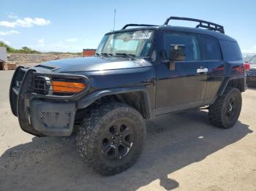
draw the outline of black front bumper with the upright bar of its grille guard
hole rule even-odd
[[[34,70],[18,67],[10,85],[12,113],[20,128],[35,136],[70,136],[75,121],[76,102],[40,98],[31,93]]]

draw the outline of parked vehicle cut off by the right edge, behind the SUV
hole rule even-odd
[[[256,87],[256,55],[247,61],[249,69],[246,70],[246,84],[249,87]]]

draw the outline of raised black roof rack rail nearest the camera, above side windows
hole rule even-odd
[[[167,25],[170,20],[188,20],[188,21],[198,22],[199,24],[197,26],[195,26],[195,28],[200,28],[200,27],[201,28],[207,28],[211,31],[219,31],[222,34],[225,34],[223,26],[220,26],[216,23],[208,22],[206,20],[199,20],[199,19],[188,18],[188,17],[168,17],[167,20],[165,20],[164,25]]]

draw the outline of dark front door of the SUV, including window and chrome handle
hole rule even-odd
[[[207,63],[201,61],[196,34],[165,31],[162,61],[157,64],[156,114],[175,112],[200,106],[206,93]],[[170,47],[180,44],[184,60],[170,67]]]

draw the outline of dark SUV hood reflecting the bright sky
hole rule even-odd
[[[56,61],[48,61],[37,67],[51,69],[56,72],[75,72],[75,71],[102,71],[115,69],[132,69],[151,66],[151,63],[143,58],[129,60],[127,58],[67,58]]]

